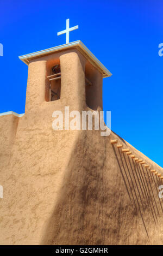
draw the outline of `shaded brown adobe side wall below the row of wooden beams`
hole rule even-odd
[[[154,182],[152,182],[152,189],[149,186],[149,182],[147,183],[151,195],[152,192],[154,193],[156,205],[154,204],[154,199],[152,198],[151,200],[150,193],[147,190],[147,195],[149,200],[153,202],[154,208],[151,210],[148,207],[145,195],[142,197],[141,194],[145,209],[145,212],[143,212],[139,195],[142,183],[140,181],[139,186],[138,180],[135,179],[136,182],[134,181],[129,160],[126,158],[128,172],[121,153],[124,168],[127,171],[127,180],[121,157],[116,146],[114,146],[127,182],[131,200],[129,199],[110,139],[118,139],[123,148],[129,148],[136,157],[145,160],[152,169],[156,169],[163,174],[160,166],[116,134],[111,133],[109,137],[102,137],[98,130],[81,131],[76,146],[71,153],[57,204],[55,204],[52,215],[43,230],[41,244],[159,245],[163,243],[161,235],[163,231],[161,224],[163,213],[158,199],[159,190],[156,191]],[[132,162],[131,166],[133,167]],[[136,193],[134,193],[133,188]],[[133,193],[133,197],[131,193]],[[156,207],[158,207],[160,217]],[[145,226],[142,222],[140,210]],[[158,218],[158,221],[156,218]]]

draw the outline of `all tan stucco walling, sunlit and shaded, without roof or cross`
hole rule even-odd
[[[46,102],[45,76],[53,58],[60,59],[61,98]],[[110,139],[117,138],[161,174],[162,169],[114,133],[102,137],[98,130],[52,129],[54,110],[87,110],[85,63],[77,50],[34,59],[29,64],[25,115],[0,116],[1,245],[163,242],[162,217],[155,225],[144,200],[148,240]],[[102,82],[99,73],[97,80]]]

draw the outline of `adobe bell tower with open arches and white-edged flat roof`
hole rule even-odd
[[[111,73],[81,41],[19,57],[28,65],[26,112],[42,104],[102,109],[102,80]]]

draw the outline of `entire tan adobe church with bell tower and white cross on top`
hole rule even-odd
[[[162,244],[162,168],[114,132],[52,128],[65,106],[102,110],[111,76],[67,27],[65,45],[20,57],[26,111],[0,115],[0,244]]]

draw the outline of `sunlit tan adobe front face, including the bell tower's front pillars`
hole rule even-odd
[[[76,50],[60,58],[61,98],[45,101],[45,78],[51,57],[29,63],[26,112],[0,116],[1,171],[0,244],[40,244],[42,229],[59,197],[62,179],[78,131],[52,129],[54,110],[84,110],[85,59]]]

